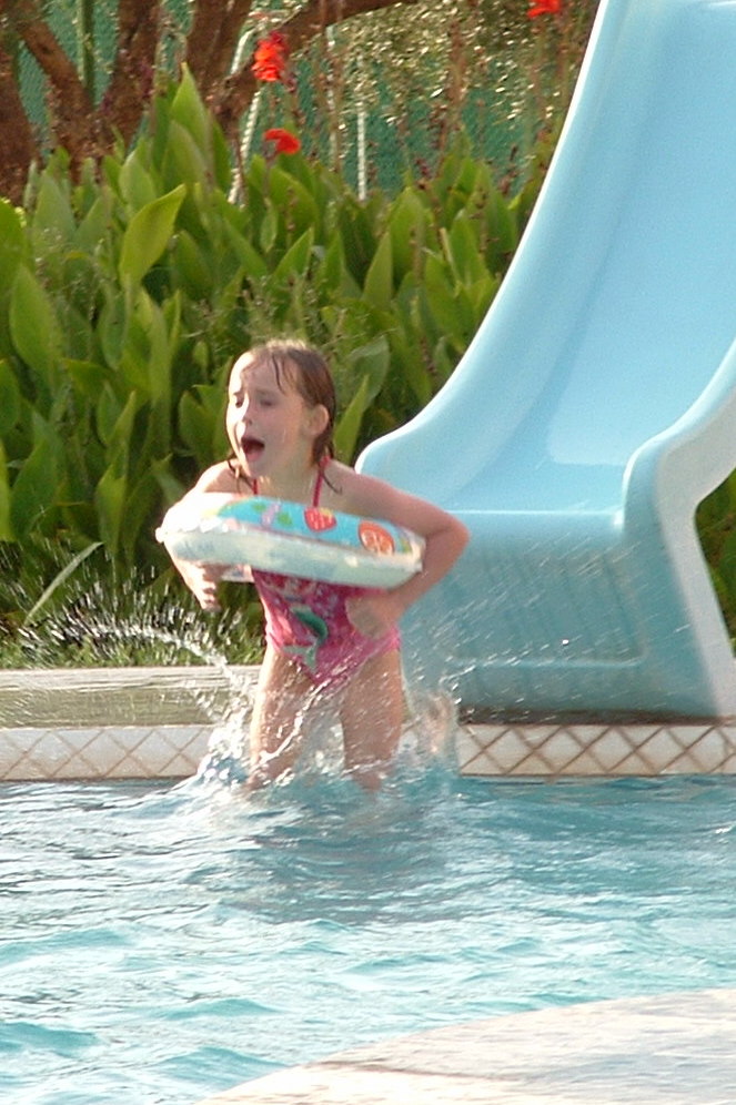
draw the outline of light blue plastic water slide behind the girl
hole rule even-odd
[[[736,467],[736,2],[604,0],[450,382],[359,466],[472,540],[405,620],[484,714],[736,713],[697,504]]]

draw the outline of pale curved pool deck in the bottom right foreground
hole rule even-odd
[[[341,1052],[199,1105],[733,1105],[736,990],[547,1008]]]

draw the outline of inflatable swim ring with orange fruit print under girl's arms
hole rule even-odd
[[[326,507],[210,491],[178,503],[155,531],[170,556],[359,587],[396,587],[422,567],[424,541],[401,526]]]

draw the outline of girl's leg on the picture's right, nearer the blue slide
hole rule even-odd
[[[340,708],[345,769],[366,790],[377,790],[401,738],[404,689],[397,650],[366,660],[344,691]]]

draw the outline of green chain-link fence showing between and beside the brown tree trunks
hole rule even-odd
[[[251,12],[234,67],[248,63],[259,37],[289,13],[283,4],[265,0]],[[595,0],[578,8],[577,57],[569,51],[565,62],[572,68]],[[42,11],[99,103],[115,54],[118,0],[46,0]],[[393,191],[405,172],[436,165],[462,129],[472,152],[500,180],[513,180],[561,94],[550,51],[541,50],[552,24],[532,26],[525,17],[524,0],[419,0],[331,28],[295,63],[298,97],[289,110],[301,116],[305,152],[331,161],[362,194],[372,186]],[[165,0],[161,68],[175,71],[191,18],[191,0]],[[48,135],[46,78],[20,40],[17,65],[29,118]],[[246,155],[256,116],[259,125],[273,125],[274,95],[265,89],[243,116]]]

